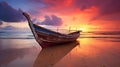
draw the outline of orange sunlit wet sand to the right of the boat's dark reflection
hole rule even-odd
[[[118,43],[94,38],[79,38],[78,41],[80,45],[73,48],[54,67],[119,67]]]

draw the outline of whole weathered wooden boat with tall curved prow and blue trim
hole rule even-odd
[[[28,20],[31,31],[36,41],[41,45],[41,47],[48,47],[52,45],[73,42],[76,41],[76,39],[80,35],[80,31],[72,32],[70,34],[62,34],[46,29],[44,27],[33,24],[30,16],[27,13],[23,13],[23,15]]]

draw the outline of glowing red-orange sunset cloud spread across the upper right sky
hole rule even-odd
[[[44,15],[56,15],[62,18],[63,26],[86,28],[109,26],[119,22],[119,0],[41,0],[46,7],[40,11]],[[114,3],[113,3],[114,2]],[[111,6],[112,5],[112,6]],[[111,7],[109,7],[111,6]],[[113,7],[114,6],[114,7]],[[39,16],[41,17],[41,15]],[[117,19],[116,19],[117,18]],[[116,21],[117,20],[117,21]],[[114,22],[116,21],[116,22]],[[110,22],[110,23],[109,23]]]

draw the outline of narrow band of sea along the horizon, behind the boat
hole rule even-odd
[[[81,32],[79,38],[120,39],[120,31]],[[0,39],[34,39],[34,36],[31,32],[0,32]]]

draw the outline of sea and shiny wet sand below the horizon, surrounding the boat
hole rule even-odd
[[[120,67],[120,31],[81,32],[76,42],[48,48],[31,32],[0,32],[0,67]]]

